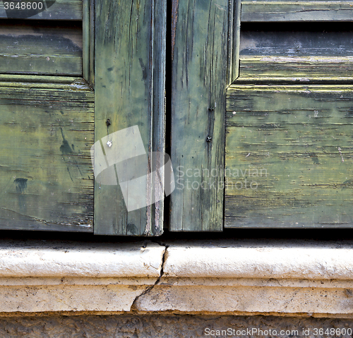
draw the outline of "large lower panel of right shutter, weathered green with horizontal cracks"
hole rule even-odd
[[[352,102],[352,85],[230,86],[225,227],[352,227]]]

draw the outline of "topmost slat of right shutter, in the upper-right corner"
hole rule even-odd
[[[352,21],[353,1],[241,1],[241,22]]]

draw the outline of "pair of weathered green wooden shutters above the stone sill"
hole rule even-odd
[[[119,180],[153,168],[107,152],[138,131],[164,163],[166,2],[44,2],[0,8],[1,228],[161,234],[163,200],[128,211]],[[352,224],[351,2],[173,1],[169,229]]]

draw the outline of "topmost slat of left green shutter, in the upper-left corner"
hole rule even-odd
[[[82,20],[83,0],[26,0],[25,4],[30,4],[30,10],[19,10],[14,8],[12,11],[9,7],[11,2],[13,3],[13,6],[16,6],[16,4],[20,1],[13,0],[0,2],[0,18],[30,20]],[[34,7],[39,8],[39,6],[42,10],[32,9]],[[7,11],[5,8],[8,8]]]

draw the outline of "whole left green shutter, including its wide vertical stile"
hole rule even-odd
[[[2,2],[1,229],[160,234],[162,201],[127,212],[91,148],[138,126],[164,161],[165,1],[37,1],[30,18]]]

